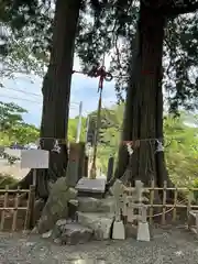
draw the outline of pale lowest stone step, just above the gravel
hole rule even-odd
[[[112,235],[113,213],[77,211],[78,223],[91,229],[96,240],[108,240]]]

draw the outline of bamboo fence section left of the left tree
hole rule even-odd
[[[35,187],[0,189],[0,231],[29,230],[33,226]]]

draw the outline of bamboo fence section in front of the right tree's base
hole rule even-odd
[[[133,187],[128,187],[128,191],[133,191]],[[161,218],[161,223],[176,222],[178,215],[183,212],[183,217],[187,218],[190,210],[198,210],[198,201],[193,199],[198,188],[186,187],[167,187],[167,182],[164,182],[163,187],[156,187],[155,183],[151,183],[151,187],[144,187],[144,196],[147,197],[147,218],[152,223],[156,218]],[[168,198],[168,193],[172,193],[172,199]],[[161,199],[156,199],[156,194],[160,194]]]

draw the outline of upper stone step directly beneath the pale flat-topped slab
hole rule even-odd
[[[81,212],[112,212],[114,200],[112,197],[106,199],[97,199],[92,197],[78,197],[75,200],[70,200],[77,211]]]

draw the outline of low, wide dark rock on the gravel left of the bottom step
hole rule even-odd
[[[61,241],[62,244],[86,243],[92,237],[92,230],[78,223],[64,223],[57,221],[54,230],[54,241]]]

